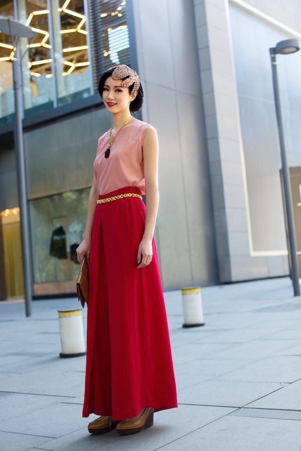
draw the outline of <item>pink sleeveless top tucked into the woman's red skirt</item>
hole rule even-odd
[[[142,143],[150,124],[135,119],[117,133],[110,156],[104,157],[109,147],[110,130],[98,140],[93,171],[100,194],[107,194],[125,186],[136,186],[145,194]]]

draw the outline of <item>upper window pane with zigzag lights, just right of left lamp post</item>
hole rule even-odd
[[[47,1],[20,0],[20,20],[32,27],[33,39],[21,39],[24,115],[53,108],[50,12]]]

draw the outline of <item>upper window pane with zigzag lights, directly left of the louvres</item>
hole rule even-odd
[[[83,0],[54,0],[53,37],[58,105],[91,95]]]

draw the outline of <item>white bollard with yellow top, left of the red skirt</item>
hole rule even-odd
[[[58,310],[62,352],[60,357],[84,355],[84,327],[82,310]]]

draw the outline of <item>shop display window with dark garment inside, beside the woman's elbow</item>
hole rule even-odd
[[[30,201],[35,284],[75,280],[90,189]]]

